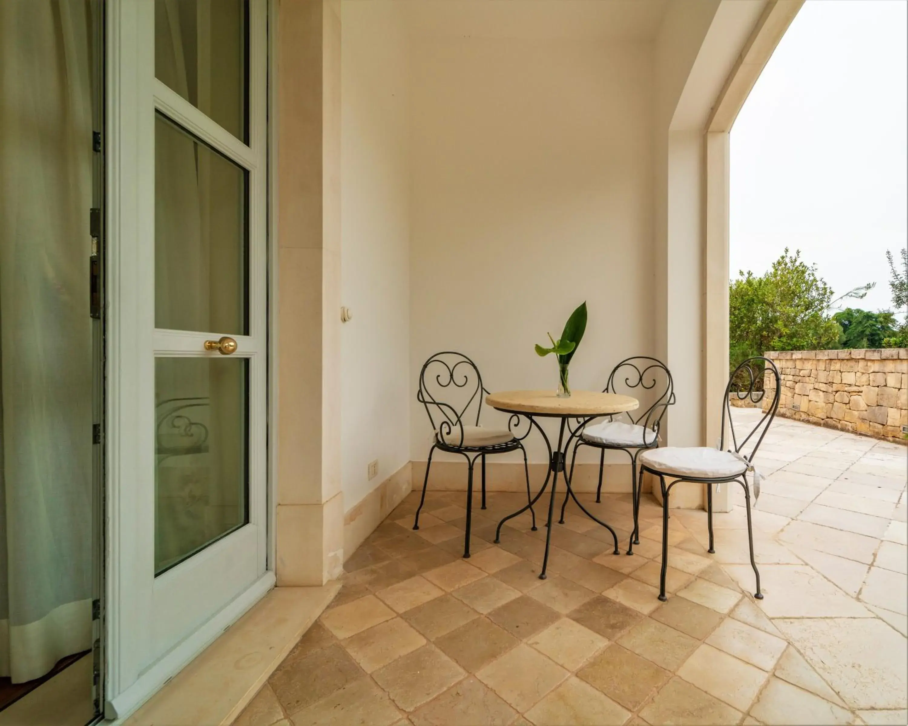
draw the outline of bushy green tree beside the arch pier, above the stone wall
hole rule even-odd
[[[731,367],[766,350],[836,348],[839,326],[827,315],[833,290],[816,268],[788,249],[760,277],[738,272],[729,288]]]

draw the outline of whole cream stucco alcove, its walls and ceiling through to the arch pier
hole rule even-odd
[[[426,458],[429,355],[466,353],[492,389],[554,388],[555,360],[533,345],[584,299],[574,388],[655,355],[676,380],[664,443],[710,443],[703,125],[764,6],[670,2],[609,35],[576,3],[464,5],[481,23],[445,4],[343,3],[348,510]]]

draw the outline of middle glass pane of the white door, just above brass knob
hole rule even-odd
[[[154,324],[246,335],[249,172],[158,113]]]

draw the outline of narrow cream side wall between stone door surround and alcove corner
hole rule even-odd
[[[344,2],[341,481],[356,505],[410,460],[408,40],[400,5]],[[338,315],[340,316],[340,310]],[[369,462],[379,474],[368,480]]]

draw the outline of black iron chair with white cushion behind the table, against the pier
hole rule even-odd
[[[632,411],[607,417],[606,421],[590,426],[587,424],[577,438],[574,454],[571,456],[570,476],[574,476],[574,463],[577,461],[577,449],[580,446],[591,446],[599,449],[599,483],[596,487],[596,502],[602,497],[602,473],[606,465],[608,449],[623,451],[630,456],[631,462],[631,499],[634,504],[634,531],[631,533],[633,544],[640,544],[637,525],[637,514],[640,509],[640,491],[637,486],[637,456],[641,451],[659,446],[659,427],[666,409],[675,403],[675,388],[672,374],[666,364],[657,358],[635,356],[625,358],[612,368],[608,375],[604,393],[636,392],[637,388],[653,391],[655,400],[640,411],[637,416]],[[621,420],[627,417],[627,420]],[[617,418],[617,420],[616,420]],[[561,505],[561,518],[558,524],[565,521],[565,507],[568,496]]]

